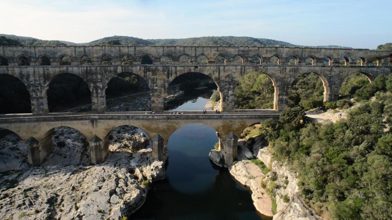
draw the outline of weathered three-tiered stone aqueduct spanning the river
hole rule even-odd
[[[382,63],[390,57],[392,51],[303,47],[0,47],[0,74],[15,76],[26,85],[32,110],[30,115],[2,115],[0,127],[25,140],[31,164],[42,163],[51,153],[55,127],[75,128],[90,140],[95,164],[105,159],[108,133],[117,126],[141,128],[153,137],[154,157],[162,159],[165,142],[176,129],[189,123],[203,123],[220,134],[220,151],[225,163],[230,164],[236,155],[236,135],[253,123],[279,117],[279,112],[287,107],[289,88],[299,75],[317,74],[323,81],[324,101],[334,101],[338,99],[344,79],[351,73],[361,72],[370,81],[379,74],[391,74],[392,67]],[[113,76],[123,72],[137,74],[148,82],[156,115],[106,112],[105,88]],[[221,95],[221,114],[168,115],[163,112],[166,88],[174,78],[187,72],[200,72],[214,80]],[[271,79],[275,88],[275,111],[233,111],[234,89],[250,72],[267,74]],[[49,83],[62,73],[74,74],[87,83],[93,112],[48,114]]]

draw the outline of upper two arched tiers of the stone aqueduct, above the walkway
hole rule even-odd
[[[240,79],[249,72],[260,72],[271,79],[275,87],[274,109],[281,111],[287,107],[289,88],[300,74],[316,73],[324,84],[324,101],[336,100],[343,80],[351,73],[361,72],[370,81],[379,74],[392,73],[392,67],[381,66],[391,54],[392,51],[308,47],[2,46],[0,58],[6,62],[2,62],[0,74],[19,78],[30,92],[33,114],[47,114],[49,83],[61,73],[75,74],[87,83],[93,112],[106,111],[105,89],[113,76],[137,74],[151,89],[152,110],[162,112],[166,89],[181,74],[201,72],[209,76],[221,94],[221,110],[231,111]],[[65,57],[71,63],[62,62]],[[151,62],[144,63],[145,57]],[[272,58],[278,62],[272,63]],[[224,63],[216,61],[222,59]]]

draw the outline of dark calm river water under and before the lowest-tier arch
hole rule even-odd
[[[213,165],[208,153],[218,142],[203,124],[181,127],[169,138],[167,177],[152,184],[145,204],[130,219],[263,219],[250,192],[227,169]]]

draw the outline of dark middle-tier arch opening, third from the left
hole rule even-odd
[[[104,92],[109,112],[151,111],[149,83],[138,74],[133,72],[115,74],[107,81]]]

